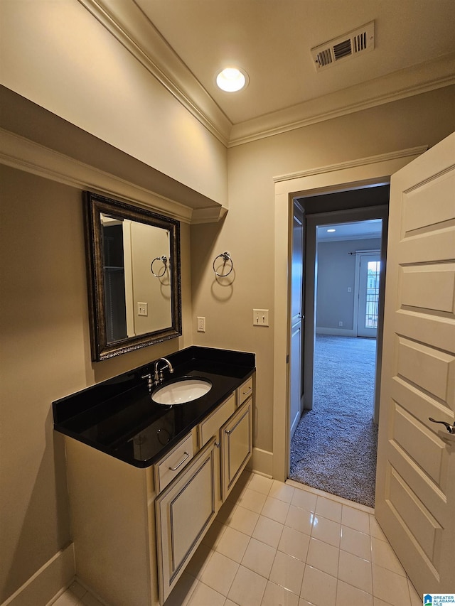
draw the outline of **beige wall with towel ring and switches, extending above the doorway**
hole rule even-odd
[[[228,215],[223,225],[191,227],[193,315],[205,316],[207,332],[196,332],[194,318],[193,330],[198,345],[256,352],[258,448],[271,452],[273,438],[273,177],[432,146],[455,130],[454,99],[447,87],[229,150]],[[212,261],[225,250],[235,280],[222,287]],[[253,308],[270,310],[270,328],[252,326]]]

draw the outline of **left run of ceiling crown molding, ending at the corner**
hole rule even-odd
[[[200,124],[227,146],[232,123],[131,1],[78,0]]]

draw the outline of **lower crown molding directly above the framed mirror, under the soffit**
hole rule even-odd
[[[4,129],[0,129],[0,163],[73,188],[95,191],[114,198],[119,197],[126,202],[165,213],[178,221],[191,223],[194,212],[191,207],[169,200]],[[213,217],[216,212],[220,214],[220,208],[219,205],[214,207]]]

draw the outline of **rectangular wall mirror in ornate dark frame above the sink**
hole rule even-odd
[[[180,336],[178,221],[91,192],[84,209],[92,360]]]

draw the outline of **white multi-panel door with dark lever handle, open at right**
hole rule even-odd
[[[390,190],[375,515],[420,594],[455,588],[454,416],[455,133]]]

